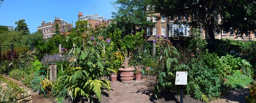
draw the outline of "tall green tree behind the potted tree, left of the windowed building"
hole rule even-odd
[[[154,23],[146,20],[145,0],[117,0],[112,3],[117,13],[112,12],[116,27],[122,34],[135,34]]]

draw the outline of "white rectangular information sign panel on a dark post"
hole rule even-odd
[[[175,85],[187,85],[187,71],[176,71]]]

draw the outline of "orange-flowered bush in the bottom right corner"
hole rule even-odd
[[[249,95],[246,96],[246,101],[248,103],[256,103],[256,83],[250,86]]]

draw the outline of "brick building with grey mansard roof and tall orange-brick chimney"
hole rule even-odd
[[[106,18],[103,16],[98,16],[98,14],[83,16],[83,13],[79,12],[78,20],[79,21],[82,21],[82,20],[87,21],[87,23],[88,23],[87,27],[95,27],[96,23],[99,24],[102,21],[106,21]]]

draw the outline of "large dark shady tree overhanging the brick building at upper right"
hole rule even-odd
[[[255,0],[149,0],[155,10],[165,16],[189,15],[190,24],[203,26],[211,40],[214,29],[245,32],[255,27]],[[254,16],[254,17],[253,17]],[[219,21],[216,21],[216,19]],[[245,19],[246,18],[246,19]]]

